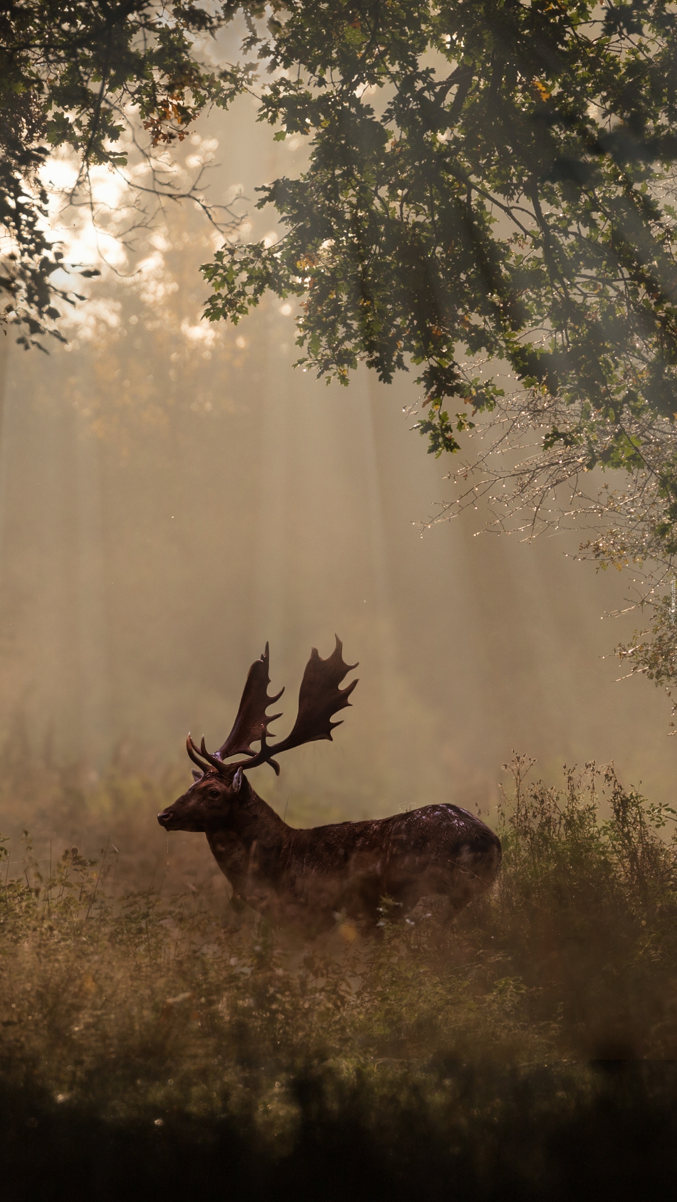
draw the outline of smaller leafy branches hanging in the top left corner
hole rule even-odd
[[[191,36],[218,24],[209,6],[190,2],[0,4],[1,316],[26,349],[44,333],[61,337],[54,300],[73,299],[54,284],[68,264],[47,222],[48,155],[71,148],[80,163],[72,195],[86,201],[92,166],[126,166],[130,126],[149,147],[182,139],[205,105],[228,97],[228,72],[205,70],[192,53]]]

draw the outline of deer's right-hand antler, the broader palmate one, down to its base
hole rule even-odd
[[[311,657],[306,664],[299,690],[299,712],[292,732],[286,739],[274,743],[270,748],[266,744],[264,732],[260,750],[253,760],[242,762],[242,768],[254,768],[259,763],[269,763],[276,773],[280,773],[280,767],[271,758],[272,755],[298,748],[302,743],[314,743],[317,739],[331,740],[331,731],[336,726],[341,726],[341,721],[332,722],[331,718],[340,709],[351,704],[348,697],[358,683],[352,680],[346,689],[338,688],[346,673],[352,672],[358,665],[343,662],[343,644],[338,635],[334,637],[336,647],[328,659],[320,659],[316,647],[311,650]]]

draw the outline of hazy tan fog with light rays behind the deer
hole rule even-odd
[[[298,169],[298,139],[272,143],[253,113],[242,100],[202,127],[215,201]],[[254,212],[247,236],[274,228]],[[90,774],[121,742],[182,757],[187,781],[187,731],[223,740],[266,639],[284,734],[310,648],[328,655],[336,631],[360,683],[334,744],[289,752],[278,781],[253,775],[290,816],[489,810],[511,749],[549,778],[613,760],[670,801],[670,704],[617,680],[613,647],[641,615],[605,617],[631,577],[575,563],[575,534],[478,535],[480,510],[421,535],[451,464],[411,432],[414,374],[325,387],[293,368],[278,300],[236,328],[200,323],[216,244],[174,207],[116,264],[138,274],[91,287],[68,346],[4,340],[5,728],[23,714],[36,755],[52,740]]]

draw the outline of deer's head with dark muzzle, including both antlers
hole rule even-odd
[[[252,789],[244,775],[250,768],[269,763],[280,774],[280,764],[274,756],[302,743],[314,743],[317,739],[330,739],[331,732],[341,721],[332,722],[334,714],[349,706],[349,696],[357,685],[352,680],[345,689],[338,685],[347,672],[357,668],[357,664],[343,662],[343,644],[336,635],[336,647],[331,655],[320,659],[317,648],[312,648],[306,664],[299,691],[299,710],[290,733],[280,743],[269,745],[269,725],[282,714],[266,714],[283,694],[268,696],[270,677],[268,674],[268,643],[260,659],[252,664],[238,716],[233,730],[221,746],[211,754],[204,745],[204,736],[199,748],[191,736],[186,740],[186,750],[197,766],[193,769],[194,783],[173,805],[157,815],[157,821],[167,831],[204,831],[209,832],[228,822],[233,807],[238,809],[251,796]],[[252,750],[252,743],[258,743],[258,751]],[[247,756],[246,760],[233,762],[232,756]],[[230,762],[226,762],[230,761]]]

